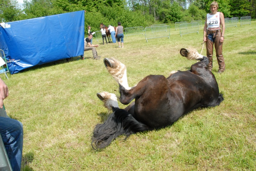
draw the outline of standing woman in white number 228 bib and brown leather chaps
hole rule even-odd
[[[206,55],[209,58],[207,69],[212,71],[213,44],[219,64],[218,74],[225,71],[225,62],[222,54],[222,45],[225,33],[225,20],[222,12],[218,12],[219,5],[213,1],[210,5],[211,13],[206,15],[204,24],[204,42],[206,41]],[[220,29],[221,26],[221,29]]]

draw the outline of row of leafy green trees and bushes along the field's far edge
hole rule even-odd
[[[255,18],[255,0],[216,0],[224,17]],[[212,0],[0,0],[1,22],[11,22],[74,11],[86,11],[85,26],[100,23],[124,27],[204,20]],[[87,29],[87,28],[85,28]]]

